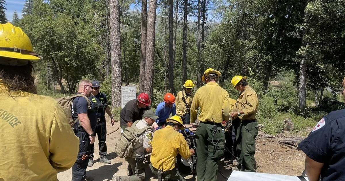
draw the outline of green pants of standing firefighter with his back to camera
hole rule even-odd
[[[216,181],[218,164],[225,149],[225,130],[220,124],[200,122],[200,127],[196,130],[196,136],[197,180]]]

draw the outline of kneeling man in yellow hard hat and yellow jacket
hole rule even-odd
[[[178,132],[183,129],[181,117],[174,115],[166,119],[167,126],[155,131],[152,140],[150,168],[157,175],[162,170],[162,178],[169,181],[185,181],[175,167],[177,153],[188,159],[194,150],[190,150],[184,136]]]

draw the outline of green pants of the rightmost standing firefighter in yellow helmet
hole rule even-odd
[[[258,135],[258,123],[256,120],[242,120],[238,127],[236,142],[237,150],[240,152],[239,161],[243,165],[242,171],[256,172],[255,138]]]

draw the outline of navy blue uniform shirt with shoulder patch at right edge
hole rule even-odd
[[[322,181],[345,181],[345,109],[323,117],[298,144],[309,158],[324,163]]]

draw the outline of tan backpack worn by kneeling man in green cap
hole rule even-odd
[[[141,120],[135,121],[130,128],[126,128],[124,133],[121,134],[121,137],[115,145],[115,153],[118,157],[132,157],[133,152],[141,147],[134,147],[135,143],[138,142],[138,138],[146,131],[151,130],[151,127],[138,129],[136,125],[139,121]]]

